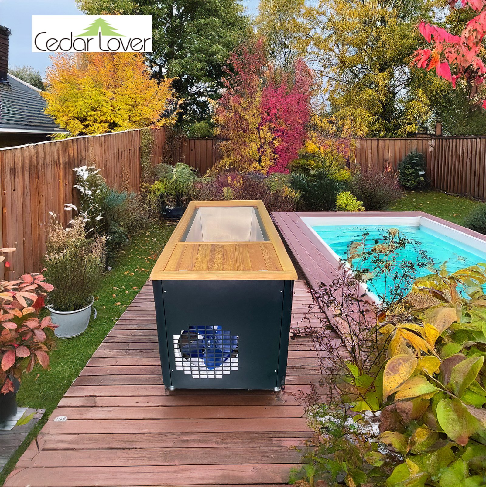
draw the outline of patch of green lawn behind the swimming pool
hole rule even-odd
[[[464,196],[454,196],[440,191],[412,191],[388,209],[391,211],[425,211],[457,225],[464,225],[466,215],[481,203]]]

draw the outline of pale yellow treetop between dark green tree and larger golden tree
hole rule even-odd
[[[288,71],[302,55],[300,46],[305,32],[302,20],[305,0],[260,0],[255,26],[263,38],[270,59]]]

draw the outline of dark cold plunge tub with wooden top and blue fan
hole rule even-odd
[[[284,385],[297,274],[261,201],[191,202],[150,278],[166,388]]]

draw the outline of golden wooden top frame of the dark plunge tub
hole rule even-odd
[[[252,206],[268,240],[259,242],[185,242],[184,235],[198,208]],[[162,250],[150,274],[159,280],[296,281],[297,273],[261,200],[192,201]]]

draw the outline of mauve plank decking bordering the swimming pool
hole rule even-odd
[[[302,218],[417,218],[424,217],[432,222],[461,231],[470,237],[481,240],[486,245],[486,235],[470,230],[464,226],[448,222],[424,211],[363,211],[360,213],[347,211],[277,211],[271,214],[284,243],[298,262],[309,285],[319,290],[321,282],[330,283],[337,276],[339,261],[336,254],[324,244]]]

